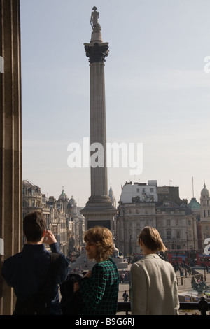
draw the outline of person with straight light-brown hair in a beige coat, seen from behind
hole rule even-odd
[[[157,251],[166,251],[158,230],[146,226],[138,240],[144,257],[131,267],[132,315],[179,314],[176,274]]]

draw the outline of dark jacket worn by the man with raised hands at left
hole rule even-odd
[[[48,314],[59,314],[58,284],[65,281],[69,272],[69,263],[60,253],[57,242],[51,244],[50,249],[52,253],[59,254],[59,265],[57,272],[55,271],[54,283],[51,288],[48,288],[51,295]],[[17,314],[17,309],[27,304],[27,301],[41,296],[41,292],[49,281],[50,255],[50,251],[47,251],[43,244],[25,244],[20,253],[3,262],[1,275],[8,286],[14,288],[18,300],[14,314]]]

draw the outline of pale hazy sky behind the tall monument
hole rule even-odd
[[[105,62],[107,141],[142,143],[143,172],[109,168],[125,181],[179,186],[200,202],[210,190],[209,0],[21,0],[23,179],[83,207],[90,169],[69,168],[67,147],[90,137],[90,15],[97,6]]]

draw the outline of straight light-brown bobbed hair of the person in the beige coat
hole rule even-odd
[[[167,251],[165,244],[162,242],[160,233],[156,228],[151,226],[146,226],[140,233],[138,243],[140,244],[140,239],[144,245],[151,249],[152,251]]]

